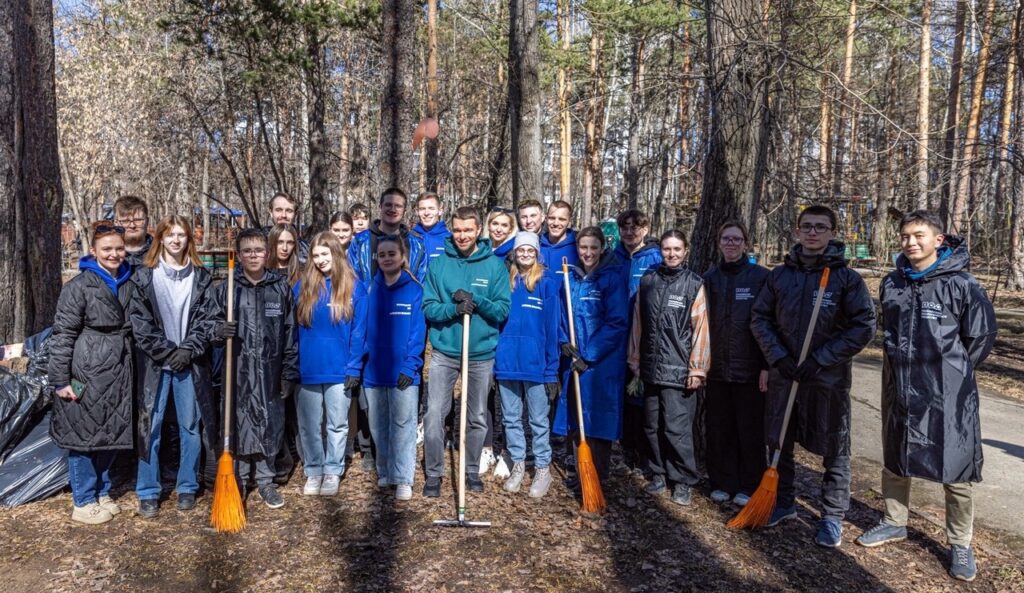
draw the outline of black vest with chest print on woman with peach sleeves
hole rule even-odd
[[[643,277],[637,292],[640,324],[640,378],[667,387],[686,387],[693,328],[690,311],[703,284],[684,266],[658,265]]]

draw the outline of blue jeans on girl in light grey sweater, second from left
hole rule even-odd
[[[153,407],[150,424],[150,451],[146,459],[138,460],[138,477],[135,494],[138,500],[160,499],[160,428],[164,425],[168,394],[174,394],[174,412],[178,418],[178,435],[181,439],[181,457],[178,463],[178,494],[199,492],[199,456],[203,438],[199,433],[199,404],[191,371],[160,372],[160,387]]]

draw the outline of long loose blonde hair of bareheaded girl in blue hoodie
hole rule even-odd
[[[338,322],[352,319],[352,292],[355,289],[355,273],[345,257],[341,242],[330,230],[317,232],[309,244],[309,259],[302,268],[299,281],[299,300],[295,305],[295,316],[299,324],[309,328],[313,323],[313,307],[319,301],[326,289],[324,273],[313,264],[313,250],[326,247],[331,252],[331,321]]]

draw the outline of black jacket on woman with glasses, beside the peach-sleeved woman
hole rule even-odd
[[[754,300],[768,273],[767,268],[741,257],[734,262],[720,262],[705,274],[711,325],[710,380],[750,383],[768,368],[751,333]]]

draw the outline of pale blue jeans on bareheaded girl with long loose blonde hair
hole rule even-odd
[[[302,441],[302,471],[306,477],[345,473],[348,407],[352,403],[348,392],[345,391],[345,385],[303,384],[299,387],[296,397],[299,440]]]

